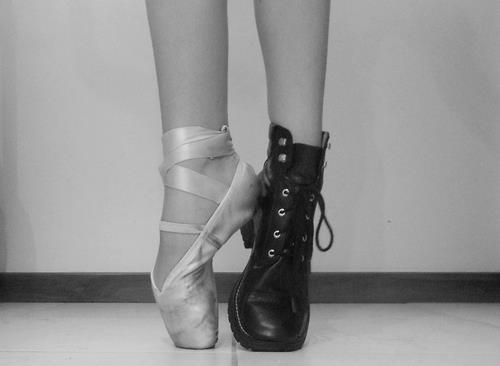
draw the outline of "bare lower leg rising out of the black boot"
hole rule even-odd
[[[269,118],[320,145],[330,0],[254,0]]]

